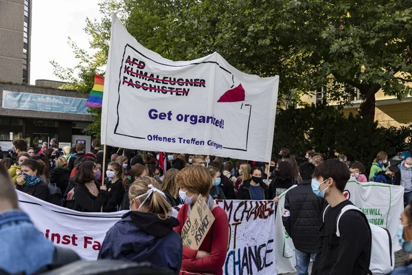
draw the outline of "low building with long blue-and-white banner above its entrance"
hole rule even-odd
[[[77,91],[0,83],[1,149],[7,151],[10,145],[4,144],[18,138],[34,148],[52,138],[64,144],[87,140],[82,143],[89,148],[91,137],[83,133],[92,122],[85,107],[88,96]]]

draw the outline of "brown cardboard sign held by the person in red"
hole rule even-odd
[[[198,250],[214,220],[209,206],[207,206],[203,197],[199,196],[181,232],[183,246]]]

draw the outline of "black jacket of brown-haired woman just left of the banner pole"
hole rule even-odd
[[[80,212],[100,212],[107,198],[107,191],[100,190],[98,184],[95,184],[99,190],[98,197],[89,192],[84,184],[78,184],[74,190],[74,210]]]

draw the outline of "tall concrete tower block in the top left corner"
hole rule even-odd
[[[0,81],[30,83],[32,0],[0,0]]]

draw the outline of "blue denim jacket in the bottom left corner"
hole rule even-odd
[[[0,212],[0,269],[33,274],[52,263],[54,245],[17,209]]]

